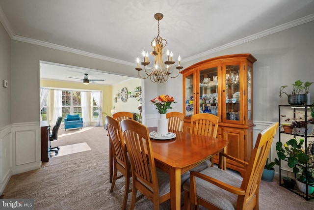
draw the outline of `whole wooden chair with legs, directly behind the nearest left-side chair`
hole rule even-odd
[[[132,191],[130,189],[131,165],[119,122],[109,116],[105,116],[105,123],[107,126],[108,135],[111,142],[111,150],[114,157],[113,180],[109,192],[113,191],[116,180],[125,177],[126,183],[122,204],[122,210],[125,210],[127,206],[128,195]],[[119,177],[117,177],[118,171],[122,174]]]

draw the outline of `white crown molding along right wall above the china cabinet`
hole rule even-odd
[[[274,28],[271,28],[271,29],[268,29],[268,30],[264,30],[264,31],[259,32],[259,33],[255,33],[253,35],[244,37],[244,38],[236,40],[234,42],[230,42],[228,44],[221,45],[219,47],[216,47],[216,48],[213,48],[211,50],[205,51],[203,53],[197,54],[195,56],[191,56],[189,58],[183,59],[181,62],[183,63],[184,61],[187,62],[187,61],[190,61],[190,60],[195,60],[195,59],[198,59],[198,58],[210,55],[212,53],[216,53],[216,52],[219,52],[219,51],[222,51],[222,50],[234,47],[236,45],[240,45],[240,44],[243,44],[243,43],[246,43],[246,42],[258,39],[258,38],[262,38],[264,36],[267,36],[267,35],[270,35],[270,34],[273,34],[273,33],[277,33],[277,32],[282,31],[282,30],[290,29],[292,27],[295,27],[295,26],[298,26],[298,25],[301,25],[301,24],[304,24],[304,23],[308,23],[308,22],[311,22],[311,21],[314,21],[314,13],[311,14],[311,15],[305,16],[303,18],[299,18],[297,20],[294,20],[294,21],[282,24],[280,26],[276,26]]]

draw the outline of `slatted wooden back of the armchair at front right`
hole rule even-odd
[[[245,189],[246,193],[244,196],[238,197],[237,209],[253,209],[258,202],[255,200],[255,194],[259,192],[262,171],[264,169],[278,125],[278,122],[274,122],[258,135],[241,184],[241,188]]]

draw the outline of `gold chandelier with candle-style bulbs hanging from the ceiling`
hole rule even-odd
[[[161,38],[159,36],[159,21],[163,18],[163,14],[156,13],[154,15],[155,19],[158,21],[158,34],[157,37],[155,37],[152,42],[151,46],[153,48],[153,51],[151,52],[151,55],[154,56],[154,64],[153,66],[148,66],[151,62],[148,60],[148,52],[143,51],[143,61],[141,62],[141,65],[144,66],[144,71],[146,75],[144,77],[141,77],[140,71],[142,68],[139,66],[139,58],[137,58],[137,67],[135,68],[138,71],[138,76],[142,79],[146,79],[150,77],[151,81],[154,83],[163,83],[166,82],[168,77],[176,78],[179,76],[180,69],[183,68],[183,66],[180,65],[181,57],[179,55],[178,57],[178,65],[176,66],[176,69],[178,69],[178,72],[175,76],[170,76],[169,70],[172,68],[172,65],[175,63],[175,61],[172,60],[172,52],[169,53],[169,50],[166,51],[167,60],[163,61],[162,56],[165,54],[164,47],[167,45],[167,40]]]

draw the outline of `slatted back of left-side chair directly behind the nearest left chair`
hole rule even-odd
[[[105,116],[105,123],[108,130],[109,139],[113,148],[112,153],[116,161],[124,168],[128,168],[127,148],[124,143],[119,122],[109,116]]]

